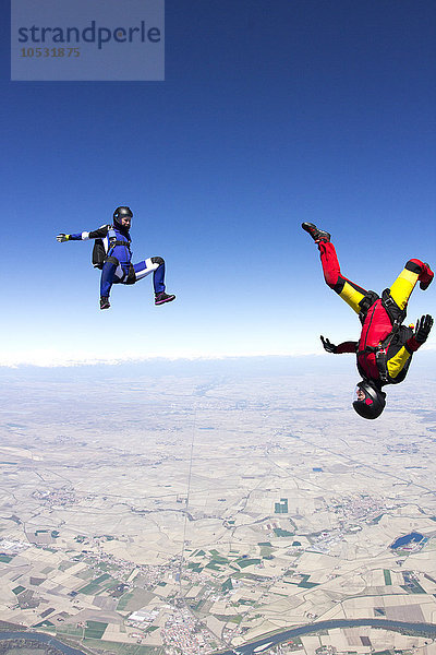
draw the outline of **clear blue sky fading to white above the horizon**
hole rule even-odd
[[[410,257],[436,265],[433,0],[167,0],[166,81],[149,83],[10,82],[4,4],[2,362],[356,337],[302,221],[367,288]],[[120,204],[175,302],[155,308],[146,278],[100,312],[89,242],[55,240]],[[410,320],[436,313],[434,287]]]

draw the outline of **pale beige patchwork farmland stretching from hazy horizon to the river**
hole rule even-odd
[[[3,373],[2,621],[144,654],[238,650],[332,619],[434,623],[434,377],[422,409],[415,382],[380,427],[315,372],[192,368],[152,388],[117,367],[40,373],[38,397],[38,373]],[[366,626],[275,647],[431,642]]]

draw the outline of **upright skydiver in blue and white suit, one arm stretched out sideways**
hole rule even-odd
[[[102,225],[90,233],[75,235],[59,234],[56,238],[64,241],[85,241],[96,239],[93,263],[101,269],[100,309],[109,309],[109,295],[112,284],[135,284],[138,279],[153,273],[155,305],[171,302],[175,296],[165,290],[165,261],[161,257],[152,257],[137,264],[132,264],[130,249],[130,226],[133,213],[130,207],[117,207],[113,212],[113,225]]]

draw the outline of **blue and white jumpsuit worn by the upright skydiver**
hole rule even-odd
[[[108,298],[112,284],[135,284],[138,279],[153,275],[155,294],[165,291],[165,261],[161,257],[152,257],[132,264],[129,230],[118,225],[102,225],[90,233],[70,235],[71,241],[101,239],[106,260],[101,269],[100,296]]]

